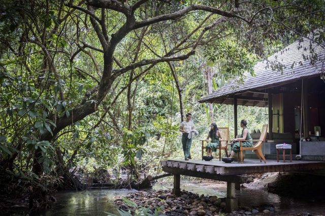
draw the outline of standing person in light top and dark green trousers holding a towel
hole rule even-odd
[[[192,114],[188,113],[186,114],[186,121],[183,121],[181,123],[181,126],[179,127],[179,131],[182,132],[182,145],[183,145],[183,152],[185,160],[191,159],[191,145],[192,145],[192,139],[188,138],[188,134],[191,130],[194,129],[194,124],[191,121]]]

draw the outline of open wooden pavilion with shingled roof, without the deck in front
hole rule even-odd
[[[234,79],[199,102],[233,104],[235,135],[238,105],[267,106],[266,156],[275,154],[277,143],[290,142],[302,159],[325,161],[325,45],[317,40],[290,44],[258,62],[255,76]],[[300,143],[306,137],[312,141]]]

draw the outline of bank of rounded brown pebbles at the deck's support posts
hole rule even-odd
[[[127,195],[125,198],[135,202],[139,207],[146,207],[154,212],[159,209],[159,213],[165,215],[264,215],[274,213],[273,206],[243,208],[231,213],[225,213],[225,198],[216,196],[205,196],[182,191],[180,197],[172,194],[171,190],[149,190],[139,191]],[[136,207],[127,205],[122,197],[115,197],[115,204],[123,210],[135,211]]]

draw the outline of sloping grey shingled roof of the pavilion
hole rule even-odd
[[[218,99],[221,97],[232,98],[235,94],[247,91],[261,91],[325,73],[324,46],[310,43],[308,39],[301,39],[300,41],[296,41],[280,52],[273,54],[268,58],[268,61],[258,62],[254,66],[255,76],[252,77],[250,74],[245,73],[243,84],[239,85],[235,79],[231,80],[210,95],[201,98],[199,102],[220,103]],[[310,52],[310,48],[314,49],[313,53]],[[316,61],[312,58],[314,55],[317,56]],[[283,70],[274,70],[270,64],[281,64]]]

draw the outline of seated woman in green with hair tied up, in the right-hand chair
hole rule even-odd
[[[250,136],[246,125],[247,125],[246,120],[243,119],[240,121],[240,127],[243,128],[242,134],[241,134],[240,138],[235,138],[232,140],[234,142],[234,144],[232,145],[233,151],[232,151],[232,154],[230,155],[230,158],[233,158],[235,153],[239,152],[239,150],[240,150],[240,142],[238,142],[238,141],[242,141],[242,147],[253,147],[252,137]]]

